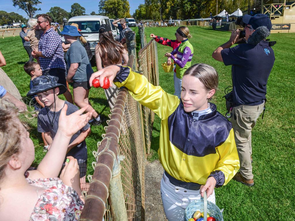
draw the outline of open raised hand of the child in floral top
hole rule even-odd
[[[82,114],[89,105],[77,110],[76,112],[67,116],[68,105],[65,104],[60,111],[60,117],[58,120],[58,131],[62,132],[65,136],[72,137],[78,130],[88,123],[94,110],[91,110],[85,114]],[[81,115],[82,114],[82,115]]]

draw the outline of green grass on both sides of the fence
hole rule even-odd
[[[146,28],[145,34],[149,41],[150,33],[175,39],[177,27]],[[137,32],[137,29],[134,28]],[[219,74],[219,91],[213,102],[217,109],[225,114],[224,88],[231,85],[231,67],[215,61],[211,54],[230,37],[230,32],[213,31],[201,27],[190,27],[194,46],[192,64],[207,63],[216,68]],[[266,112],[261,117],[252,132],[253,145],[253,174],[255,185],[247,187],[235,181],[216,189],[216,202],[224,208],[224,220],[295,220],[295,103],[293,100],[295,78],[295,33],[271,34],[271,40],[276,40],[273,46],[276,61],[268,80]],[[137,42],[138,43],[138,42]],[[3,70],[9,75],[19,89],[22,96],[29,90],[30,77],[24,72],[23,65],[28,60],[27,53],[22,46],[20,37],[0,39],[0,50],[6,58],[7,65]],[[172,49],[158,44],[158,59],[160,85],[168,93],[174,92],[173,75],[165,73],[160,66],[165,52]],[[93,66],[96,70],[96,67]],[[61,96],[63,98],[63,96]],[[94,108],[107,116],[108,104],[102,89],[92,88],[89,95]],[[42,139],[35,129],[36,118],[28,120],[31,126],[31,138],[36,145],[36,159],[34,165],[42,159]],[[158,142],[160,119],[155,118],[150,161],[158,159]],[[101,141],[104,133],[103,126],[92,127],[91,135],[86,138],[88,147],[88,174],[93,173],[91,162],[94,161],[92,151],[97,149],[96,143]]]

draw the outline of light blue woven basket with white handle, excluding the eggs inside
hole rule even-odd
[[[222,210],[219,209],[217,205],[212,202],[207,201],[206,191],[204,192],[204,199],[194,200],[185,209],[185,221],[189,218],[193,218],[196,211],[204,212],[204,221],[207,221],[207,213],[212,216],[216,221],[224,221],[222,216]]]

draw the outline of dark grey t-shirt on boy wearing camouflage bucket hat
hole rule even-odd
[[[68,101],[65,101],[65,104],[68,105],[67,115],[70,115],[71,113],[74,113],[75,111],[79,110],[79,108],[76,105],[73,105],[69,103]],[[60,110],[61,111],[61,110]],[[55,137],[55,134],[58,129],[58,119],[60,116],[60,111],[55,112],[55,117],[53,120],[53,127],[50,125],[50,121],[53,119],[53,111],[50,111],[47,107],[42,108],[38,114],[38,120],[37,120],[37,130],[38,132],[42,133],[48,133],[50,132],[52,134],[52,138]],[[50,121],[47,116],[50,118]],[[82,131],[86,131],[90,125],[87,123],[80,131],[75,133],[70,141],[70,144],[79,136],[79,134]],[[66,155],[67,156],[73,156],[75,159],[77,159],[78,163],[83,163],[87,160],[87,146],[85,140],[82,141],[77,146],[73,147]]]

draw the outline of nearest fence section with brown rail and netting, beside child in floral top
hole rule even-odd
[[[128,66],[132,67],[134,55]],[[93,154],[89,191],[80,220],[144,220],[146,161],[141,105],[120,89],[106,134]]]

